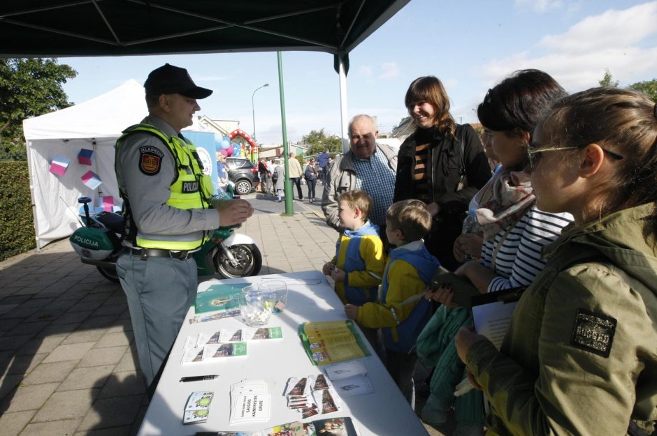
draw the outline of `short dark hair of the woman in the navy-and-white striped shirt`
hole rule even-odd
[[[518,70],[492,89],[477,107],[482,125],[509,136],[532,133],[550,103],[566,95],[561,85],[541,70]]]

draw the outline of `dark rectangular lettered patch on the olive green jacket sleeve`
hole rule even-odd
[[[570,345],[602,357],[609,357],[614,333],[616,333],[615,318],[589,310],[577,309]]]

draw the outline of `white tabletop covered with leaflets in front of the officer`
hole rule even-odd
[[[263,278],[281,278],[288,283],[289,297],[283,313],[272,315],[268,326],[282,328],[282,340],[260,340],[247,343],[247,356],[228,357],[212,362],[180,363],[185,340],[198,333],[213,333],[219,329],[240,329],[241,317],[189,324],[194,308],[189,310],[164,372],[146,412],[139,436],[185,436],[198,431],[263,430],[291,421],[313,421],[337,416],[351,416],[361,436],[427,435],[424,426],[411,409],[383,363],[370,348],[371,356],[360,359],[368,370],[375,392],[342,398],[338,412],[301,419],[301,414],[287,408],[284,389],[289,377],[307,377],[322,373],[313,366],[297,336],[299,324],[308,321],[346,320],[340,299],[320,271],[271,274],[233,280],[208,280],[198,285],[198,291],[216,283],[257,283]],[[319,282],[319,284],[307,284]],[[363,336],[364,339],[364,336]],[[369,347],[369,344],[368,344]],[[214,380],[180,382],[180,377],[217,374]],[[229,425],[231,384],[243,379],[264,379],[271,394],[271,419],[266,423]],[[193,391],[214,391],[210,416],[205,423],[182,425],[182,414]]]

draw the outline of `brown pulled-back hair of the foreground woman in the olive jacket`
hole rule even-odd
[[[592,88],[557,100],[542,133],[545,145],[583,148],[596,143],[623,156],[614,161],[615,174],[596,189],[598,195],[612,193],[600,216],[657,201],[657,108],[641,93]],[[657,232],[657,215],[653,222]]]

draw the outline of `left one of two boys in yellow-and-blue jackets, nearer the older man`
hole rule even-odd
[[[378,296],[386,259],[379,226],[368,220],[372,206],[372,198],[364,190],[350,190],[338,197],[338,218],[345,231],[335,246],[335,257],[324,264],[322,272],[335,281],[342,303],[361,306]],[[363,329],[363,333],[378,352],[376,329]]]

